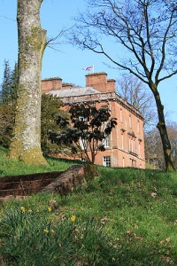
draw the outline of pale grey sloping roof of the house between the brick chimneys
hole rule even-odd
[[[59,98],[65,97],[77,97],[82,95],[98,94],[98,90],[93,89],[92,87],[74,87],[71,89],[60,89],[60,90],[50,90],[48,94],[55,95]]]

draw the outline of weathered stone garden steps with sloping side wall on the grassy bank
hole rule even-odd
[[[77,185],[86,185],[86,179],[97,176],[97,170],[93,166],[73,165],[61,172],[50,172],[26,176],[0,177],[0,202],[8,196],[27,196],[37,192],[58,192],[67,195],[73,192]]]

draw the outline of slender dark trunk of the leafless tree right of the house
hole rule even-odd
[[[165,126],[165,115],[164,115],[164,106],[161,103],[161,99],[158,93],[158,86],[155,83],[150,83],[150,90],[152,90],[156,105],[158,107],[158,125],[157,128],[160,133],[162,146],[163,146],[163,152],[165,157],[165,169],[167,171],[173,171],[175,170],[173,166],[173,159],[172,159],[172,149],[171,144],[168,138],[166,126]]]

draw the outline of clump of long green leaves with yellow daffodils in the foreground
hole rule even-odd
[[[106,255],[109,243],[100,226],[90,220],[80,223],[73,213],[63,215],[51,206],[30,206],[26,202],[6,209],[0,226],[4,243],[0,252],[9,265],[14,261],[15,266],[37,265],[36,258],[40,258],[40,265],[50,266],[69,266],[80,261],[87,265],[96,265],[96,261],[108,265],[109,261],[109,265],[114,265],[113,256]]]

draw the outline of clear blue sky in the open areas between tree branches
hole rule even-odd
[[[0,0],[0,82],[3,81],[4,59],[13,67],[17,61],[17,1]],[[48,37],[58,35],[63,27],[71,27],[73,16],[78,10],[86,7],[84,0],[44,0],[41,10],[42,27],[47,29]],[[108,43],[108,45],[110,45]],[[94,65],[95,72],[106,72],[108,78],[117,80],[120,73],[106,66],[109,63],[103,56],[91,51],[81,51],[69,44],[58,46],[59,51],[47,48],[42,60],[42,78],[62,78],[63,82],[85,85],[85,72],[82,68]],[[159,87],[160,96],[165,106],[167,119],[177,122],[177,75],[162,82]]]

